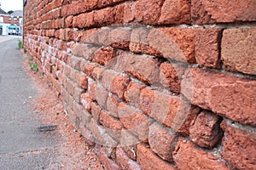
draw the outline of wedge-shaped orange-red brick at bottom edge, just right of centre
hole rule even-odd
[[[166,161],[160,159],[144,144],[137,144],[137,162],[142,169],[163,169],[172,170],[175,167]]]

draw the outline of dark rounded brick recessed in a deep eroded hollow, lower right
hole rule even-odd
[[[202,111],[189,129],[189,137],[201,147],[212,148],[222,137],[220,117],[209,111]]]

